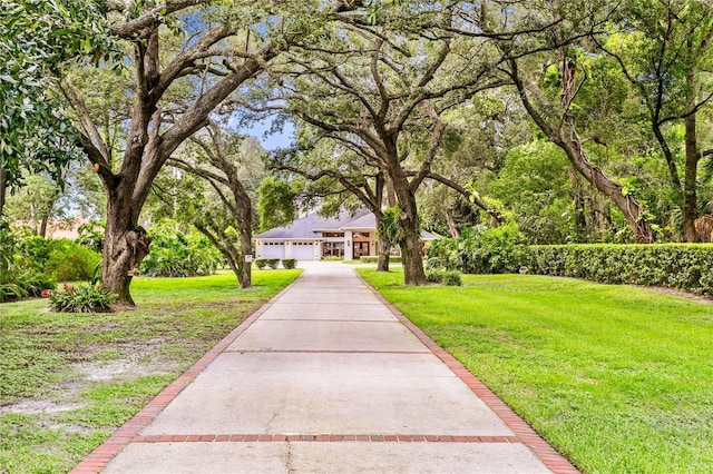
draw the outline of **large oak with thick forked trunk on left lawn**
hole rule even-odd
[[[139,216],[153,180],[178,147],[207,125],[211,113],[237,88],[268,69],[292,40],[318,30],[316,17],[349,10],[348,3],[212,2],[176,0],[115,2],[109,17],[118,43],[130,50],[134,70],[130,119],[123,149],[108,146],[82,91],[62,90],[80,117],[79,141],[107,195],[102,279],[124,304],[131,269],[148,251]],[[309,14],[310,23],[306,23]],[[289,21],[283,21],[289,17]],[[173,93],[180,89],[180,95]]]

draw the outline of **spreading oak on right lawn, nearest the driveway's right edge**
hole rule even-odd
[[[422,285],[416,192],[439,157],[442,117],[504,82],[487,37],[460,40],[438,27],[456,21],[449,7],[414,8],[350,16],[319,43],[294,48],[274,68],[281,88],[270,99],[379,169],[403,210],[406,283]]]

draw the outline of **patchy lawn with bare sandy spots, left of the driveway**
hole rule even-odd
[[[0,472],[68,472],[300,273],[137,278],[113,314],[1,305]]]

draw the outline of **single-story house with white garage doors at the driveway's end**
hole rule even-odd
[[[434,238],[432,234],[421,234],[422,240]],[[358,260],[361,256],[377,255],[377,218],[368,209],[342,211],[334,217],[312,213],[253,237],[256,258],[297,260],[323,257]]]

